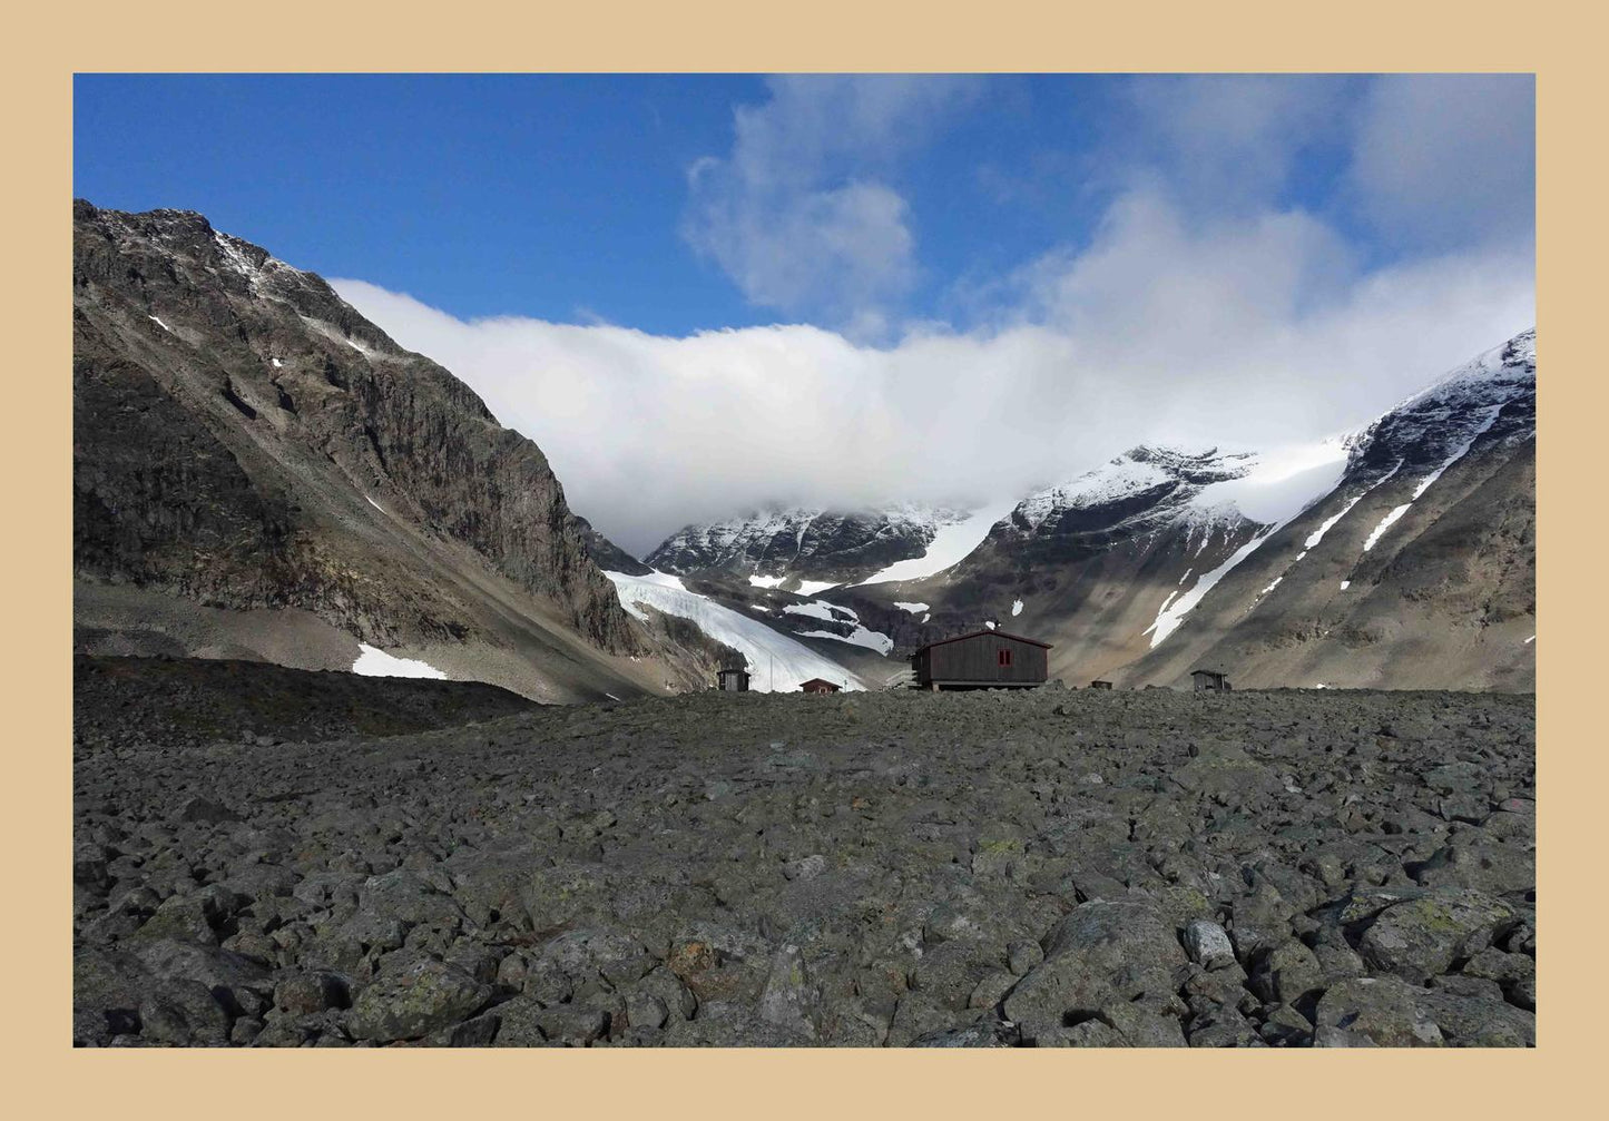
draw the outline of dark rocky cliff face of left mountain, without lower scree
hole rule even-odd
[[[473,629],[405,526],[636,648],[541,449],[447,370],[200,214],[72,217],[76,573],[360,637]]]

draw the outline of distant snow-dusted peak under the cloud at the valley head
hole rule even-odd
[[[677,576],[739,576],[756,587],[821,589],[866,579],[922,556],[964,510],[890,505],[879,510],[774,507],[713,524],[692,524],[648,553],[647,565]]]

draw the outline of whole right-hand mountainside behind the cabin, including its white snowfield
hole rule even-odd
[[[854,592],[922,605],[898,653],[993,621],[1075,684],[1533,688],[1535,331],[1326,441],[1131,449]]]

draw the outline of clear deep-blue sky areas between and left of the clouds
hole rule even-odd
[[[1337,105],[1361,87],[1286,82],[1329,87]],[[829,153],[821,174],[896,185],[919,249],[895,310],[967,320],[977,288],[1088,241],[1121,188],[1107,153],[1157,137],[1144,135],[1134,79],[944,85],[943,127],[896,117],[885,153]],[[734,111],[767,98],[750,76],[79,76],[74,191],[117,209],[196,209],[314,272],[462,317],[668,335],[830,320],[808,298],[747,293],[687,236],[690,169],[727,154]],[[1390,240],[1337,198],[1352,124],[1311,122],[1278,201],[1334,214],[1364,253],[1389,257]]]

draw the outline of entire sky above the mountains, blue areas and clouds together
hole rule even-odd
[[[77,196],[196,209],[331,278],[634,544],[769,499],[1010,491],[1141,439],[1311,436],[1535,317],[1529,76],[79,76],[74,98]],[[689,409],[711,370],[730,405]],[[1004,426],[1046,449],[1028,474],[919,466]],[[714,446],[745,482],[700,466]]]

